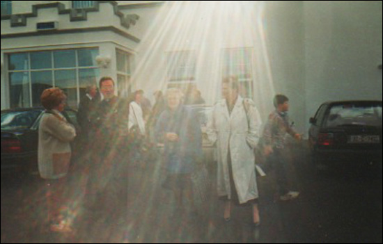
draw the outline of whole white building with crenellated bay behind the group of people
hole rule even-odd
[[[327,100],[382,99],[382,1],[1,1],[1,109],[58,86],[77,106],[111,76],[120,95],[169,86],[220,97],[239,76],[263,117],[290,97],[306,131]]]

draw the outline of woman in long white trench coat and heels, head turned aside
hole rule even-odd
[[[230,76],[208,123],[208,136],[218,150],[218,195],[225,197],[224,219],[230,220],[232,202],[251,203],[253,224],[259,225],[258,188],[253,149],[260,138],[260,115],[251,99],[239,95],[239,83]]]

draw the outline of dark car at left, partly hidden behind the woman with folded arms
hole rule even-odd
[[[38,127],[44,108],[17,108],[1,111],[1,172],[38,169]],[[63,115],[77,126],[76,111]]]

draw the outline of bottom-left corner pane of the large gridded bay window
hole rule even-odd
[[[28,72],[10,73],[10,107],[28,108],[31,106]]]

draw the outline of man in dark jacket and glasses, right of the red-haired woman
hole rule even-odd
[[[104,98],[91,113],[94,138],[86,186],[86,208],[103,211],[107,218],[125,220],[127,211],[128,106],[115,95],[111,77],[100,79]]]

